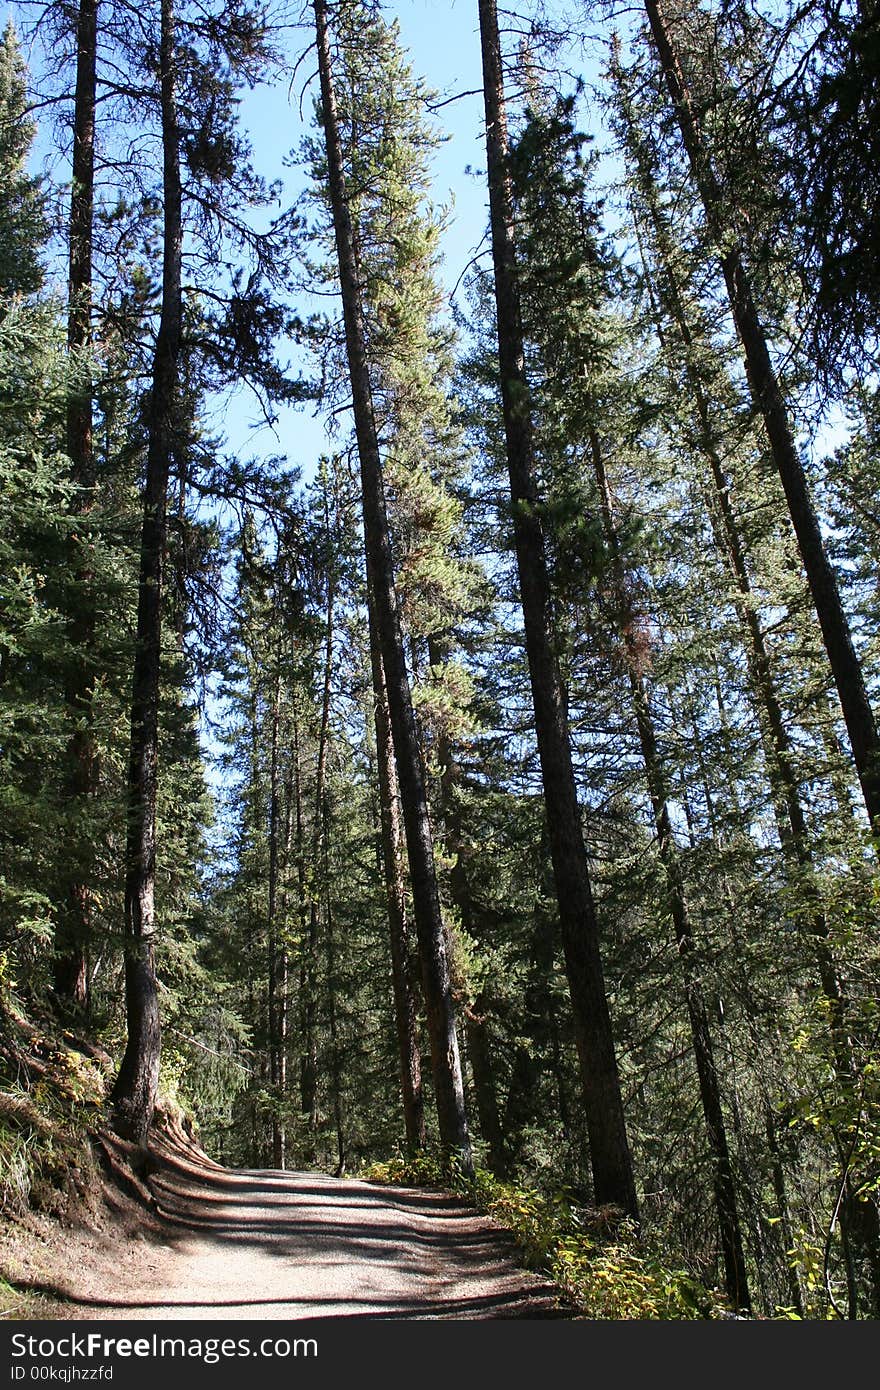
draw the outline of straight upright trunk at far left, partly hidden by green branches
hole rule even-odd
[[[92,342],[92,224],[95,215],[95,111],[97,88],[97,0],[81,0],[76,19],[76,88],[74,93],[74,165],[70,213],[70,268],[67,346],[74,367],[75,385],[67,399],[67,453],[71,480],[76,485],[74,513],[83,516],[95,492],[95,456],[92,448],[92,382],[82,360]],[[79,528],[76,528],[79,531]],[[81,595],[71,614],[70,632],[74,651],[67,681],[65,703],[74,721],[67,758],[65,799],[82,821],[97,788],[97,758],[90,721],[92,648],[95,642],[95,600],[92,574],[81,549],[79,534],[72,537],[72,570]],[[93,898],[89,884],[83,835],[75,834],[76,852],[61,892],[60,920],[56,933],[54,981],[63,1004],[86,1008],[89,979],[86,949],[92,935]]]

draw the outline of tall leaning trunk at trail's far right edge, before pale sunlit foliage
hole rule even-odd
[[[431,821],[428,817],[418,733],[413,713],[395,589],[382,466],[370,391],[363,295],[345,183],[336,99],[332,85],[327,4],[324,0],[314,0],[314,17],[329,200],[339,260],[345,342],[352,381],[355,434],[360,459],[367,582],[373,591],[375,605],[375,627],[385,670],[395,762],[400,785],[410,888],[413,894],[413,916],[418,937],[423,991],[431,1040],[431,1066],[439,1138],[446,1156],[456,1162],[463,1172],[471,1173],[473,1156],[464,1109],[464,1087],[462,1084],[455,1004],[446,958],[446,937],[434,866]]]

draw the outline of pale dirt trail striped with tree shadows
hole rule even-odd
[[[234,1170],[161,1144],[163,1234],[82,1251],[72,1319],[564,1316],[506,1232],[459,1200],[324,1173]],[[64,1287],[61,1287],[64,1286]]]

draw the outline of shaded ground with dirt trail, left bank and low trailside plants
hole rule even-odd
[[[430,1155],[370,1180],[225,1169],[175,1106],[145,1155],[108,1130],[114,1072],[0,998],[0,1318],[731,1315],[610,1209],[482,1170],[450,1193]]]

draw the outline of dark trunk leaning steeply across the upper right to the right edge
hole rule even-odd
[[[728,240],[727,229],[723,225],[723,189],[712,167],[710,152],[699,128],[681,63],[659,0],[645,0],[645,13],[691,172],[706,213],[709,231],[719,247],[719,263],[745,354],[752,400],[763,417],[773,461],[788,502],[806,581],[840,695],[867,819],[873,830],[880,830],[880,738],[862,667],[852,645],[837,577],[824,549],[819,520],[798,457],[785,399],[770,360],[767,338],[755,304],[748,271],[737,247],[723,249]]]

